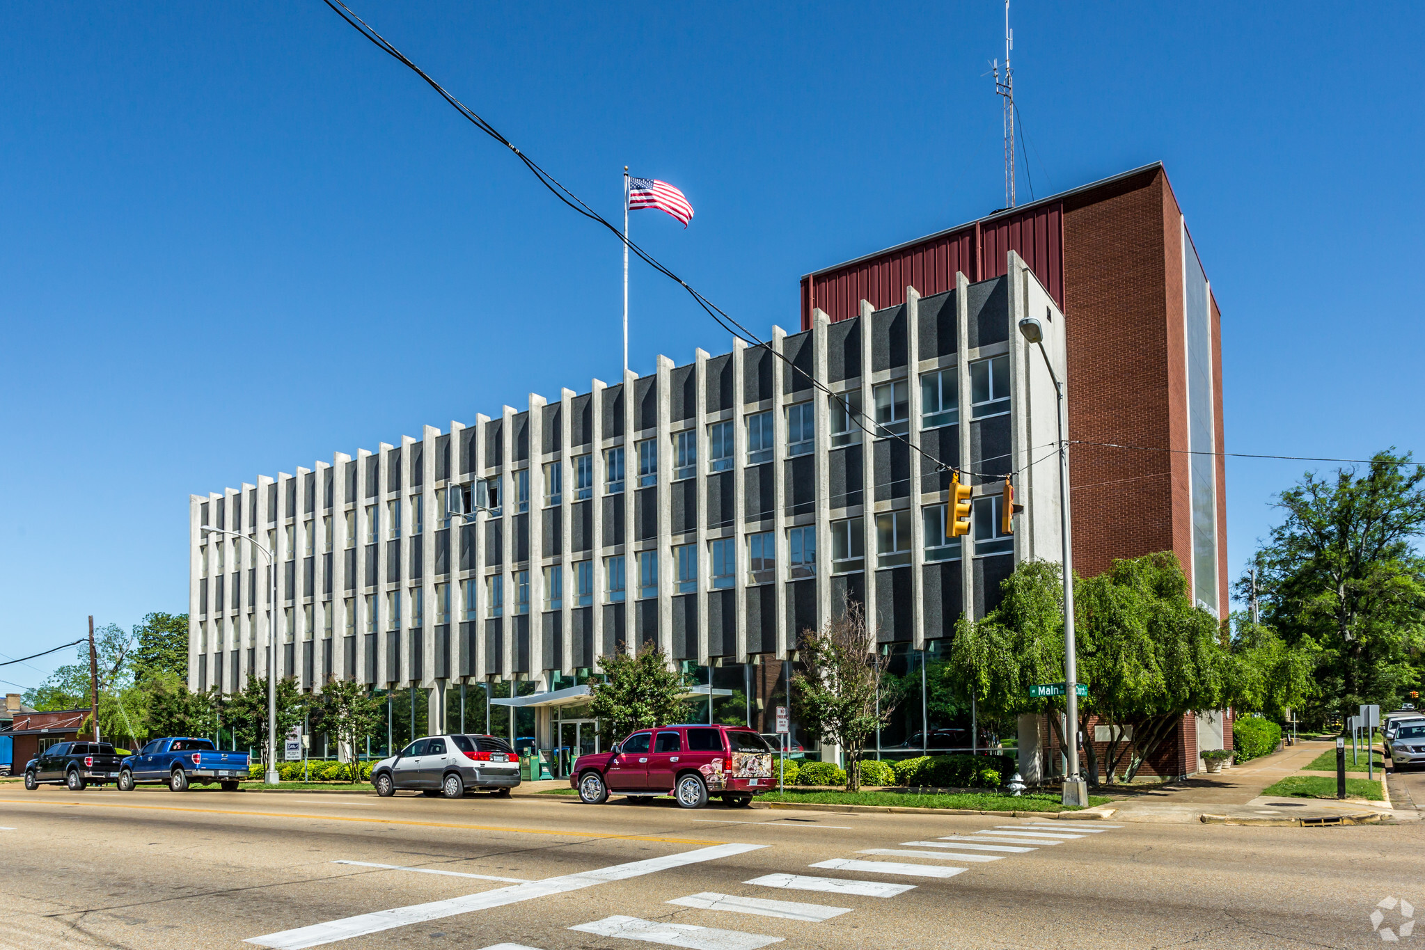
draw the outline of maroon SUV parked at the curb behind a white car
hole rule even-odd
[[[748,728],[677,725],[638,729],[608,752],[581,755],[569,783],[586,805],[608,795],[673,795],[683,808],[703,808],[711,795],[745,808],[772,789],[772,749]]]

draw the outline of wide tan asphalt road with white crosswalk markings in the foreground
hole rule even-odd
[[[1026,839],[1030,825],[1062,836]],[[1379,902],[1425,909],[1418,822],[1119,825],[4,785],[0,828],[4,947],[1368,947],[1381,944]],[[966,840],[945,840],[956,836]],[[846,860],[892,866],[836,866]],[[1382,927],[1408,920],[1399,903],[1381,913]]]

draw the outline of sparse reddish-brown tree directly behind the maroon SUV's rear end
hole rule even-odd
[[[855,792],[866,738],[891,721],[909,684],[888,675],[865,612],[849,598],[821,630],[804,630],[797,648],[805,669],[792,675],[792,706],[808,732],[841,746],[846,790]]]

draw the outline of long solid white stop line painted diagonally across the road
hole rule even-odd
[[[355,917],[343,917],[342,920],[328,920],[326,923],[295,927],[292,930],[269,933],[261,937],[248,937],[247,943],[252,943],[259,947],[272,947],[272,950],[299,950],[301,947],[316,947],[323,943],[346,940],[348,937],[361,937],[368,933],[405,927],[406,924],[453,917],[456,914],[466,914],[475,910],[489,910],[490,907],[504,907],[524,900],[534,900],[536,897],[563,894],[570,890],[581,890],[584,887],[593,887],[594,884],[606,884],[614,880],[640,877],[643,875],[651,875],[671,867],[684,867],[700,862],[717,860],[718,857],[732,857],[734,855],[744,855],[762,847],[767,847],[767,845],[717,845],[714,847],[700,847],[680,855],[664,855],[663,857],[648,857],[646,860],[636,860],[627,865],[613,865],[610,867],[586,870],[576,875],[546,877],[544,880],[534,880],[527,884],[496,887],[494,890],[466,894],[465,897],[432,900],[425,904],[412,904],[409,907],[395,907],[392,910],[379,910],[369,914],[356,914]]]

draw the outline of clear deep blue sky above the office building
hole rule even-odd
[[[693,225],[634,238],[758,332],[802,273],[1003,204],[993,1],[355,9],[606,215],[626,164],[680,185]],[[617,377],[617,242],[316,0],[6,16],[7,657],[185,610],[190,493]],[[1421,444],[1422,21],[1013,7],[1035,192],[1167,164],[1228,451]],[[634,268],[636,370],[728,345]],[[1228,461],[1233,575],[1307,467]]]

